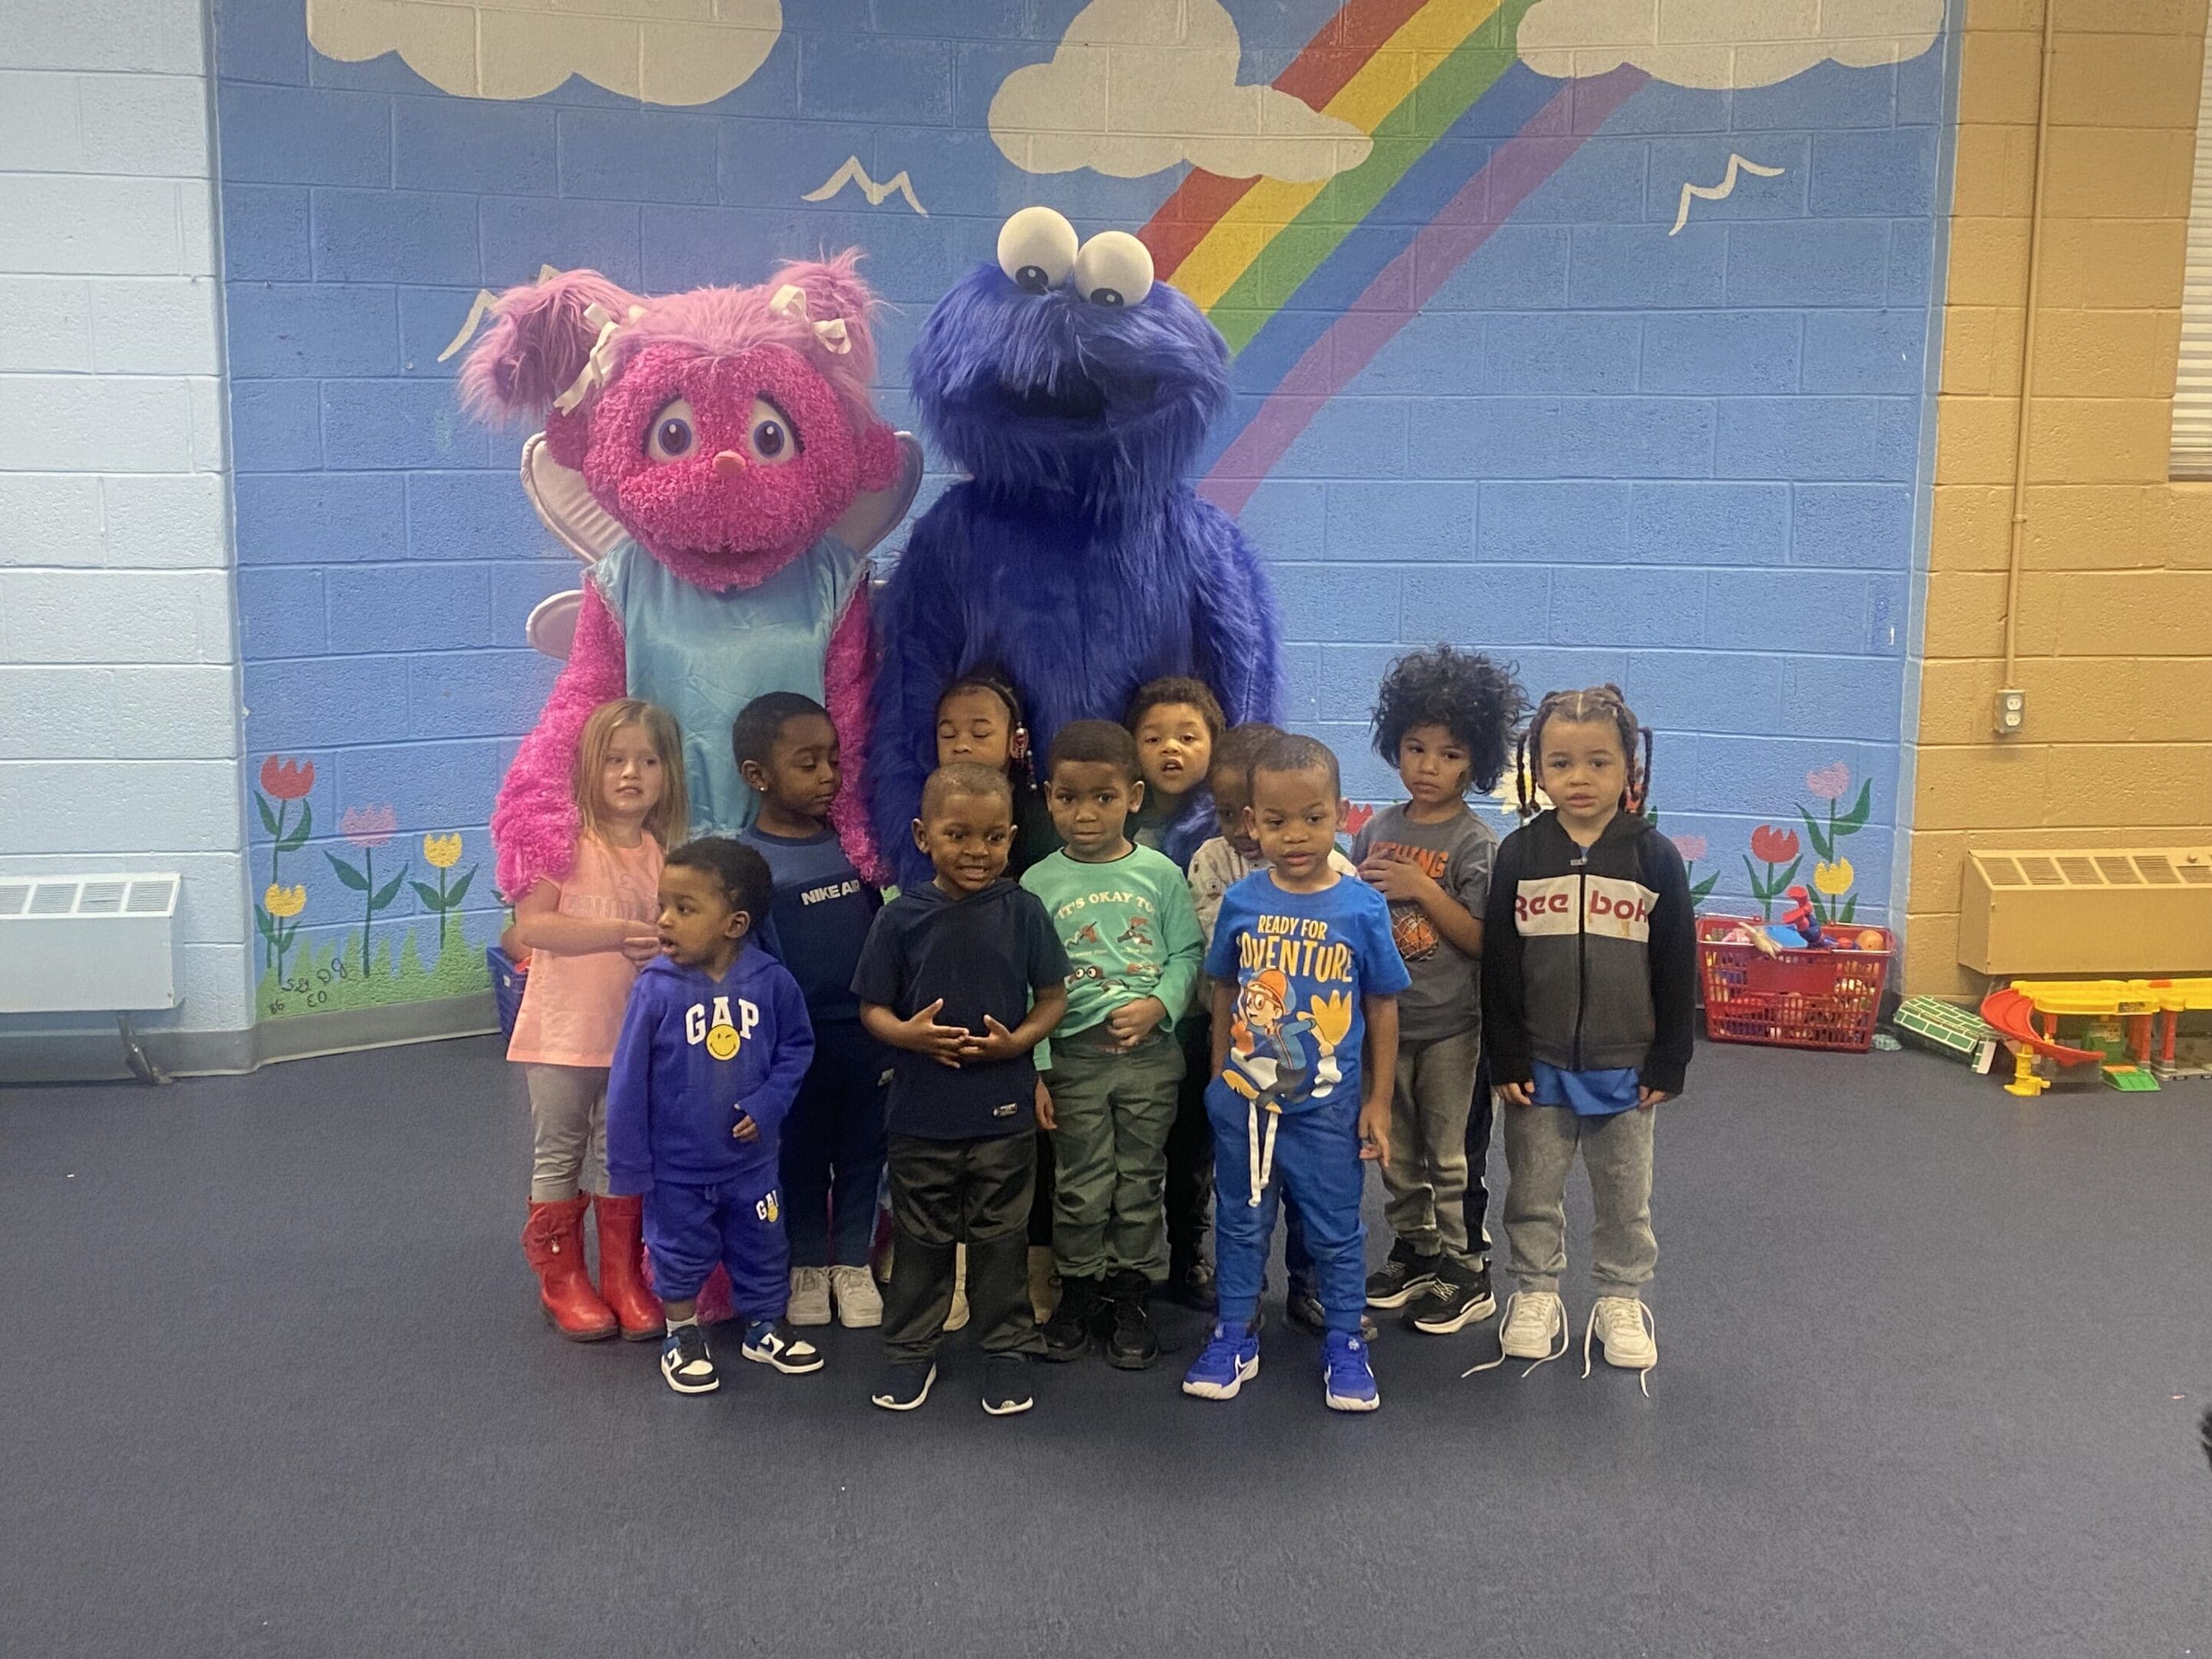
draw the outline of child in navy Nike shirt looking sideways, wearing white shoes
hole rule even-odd
[[[792,1325],[883,1323],[867,1270],[883,1188],[889,1051],[860,1026],[852,971],[883,896],[830,827],[843,772],[830,712],[799,692],[754,697],[730,728],[739,776],[759,796],[741,841],[768,860],[768,947],[799,980],[814,1064],[783,1126],[783,1217],[792,1239]]]

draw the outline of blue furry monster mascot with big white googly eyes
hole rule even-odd
[[[922,323],[914,394],[969,478],[916,520],[876,611],[869,821],[907,883],[929,878],[909,823],[953,679],[1011,681],[1040,761],[1148,679],[1206,681],[1230,723],[1274,719],[1281,679],[1259,557],[1183,482],[1228,403],[1228,345],[1141,241],[1077,248],[1051,208],[1013,215],[998,263]],[[1186,812],[1208,810],[1197,790]]]

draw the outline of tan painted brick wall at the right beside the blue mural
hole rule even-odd
[[[2044,0],[1966,7],[1905,953],[1938,995],[1982,991],[1966,847],[2212,843],[2212,484],[2166,478],[2208,0],[2051,2],[2015,739],[1991,701]]]

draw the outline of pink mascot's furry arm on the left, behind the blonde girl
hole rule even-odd
[[[584,577],[584,608],[575,619],[568,666],[553,681],[538,726],[515,750],[491,810],[491,845],[500,854],[500,894],[513,905],[540,880],[560,880],[575,863],[575,754],[584,721],[599,703],[622,697],[628,657],[622,624]]]

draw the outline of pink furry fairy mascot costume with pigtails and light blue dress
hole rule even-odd
[[[568,872],[577,739],[611,697],[677,717],[697,834],[752,821],[730,721],[761,692],[821,699],[858,770],[867,560],[852,544],[863,538],[836,531],[872,491],[905,478],[911,495],[918,462],[867,396],[876,347],[856,259],[664,299],[577,270],[491,303],[462,398],[484,418],[544,416],[524,447],[524,489],[593,560],[555,628],[573,617],[568,666],[491,814],[509,900]],[[876,533],[902,507],[876,513]],[[540,617],[531,628],[544,644]],[[841,801],[836,816],[865,852],[860,803]]]

